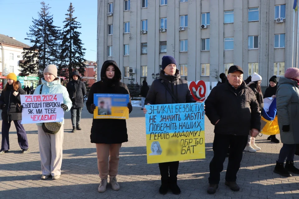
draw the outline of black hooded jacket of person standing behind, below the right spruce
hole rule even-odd
[[[72,73],[73,75],[79,75],[78,71],[74,71]],[[83,81],[80,81],[80,78],[78,80],[72,80],[66,85],[66,89],[69,92],[69,98],[72,100],[73,108],[81,108],[84,106],[84,95],[86,94],[86,86]],[[77,89],[77,91],[76,91]],[[76,98],[73,99],[73,95],[76,92]]]

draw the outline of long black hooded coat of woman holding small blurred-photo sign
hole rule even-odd
[[[106,69],[108,66],[114,65],[115,76],[113,80],[106,77]],[[108,93],[108,94],[129,94],[130,92],[126,84],[120,82],[121,71],[117,67],[115,61],[108,60],[103,63],[101,69],[101,81],[98,81],[91,86],[86,107],[89,113],[93,114],[91,104],[93,104],[93,94]],[[131,105],[131,98],[130,105]],[[129,112],[132,111],[132,105],[129,107]],[[90,140],[97,144],[120,144],[128,141],[127,126],[125,119],[93,119],[91,127]]]

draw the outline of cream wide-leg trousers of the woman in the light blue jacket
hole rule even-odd
[[[38,142],[40,146],[40,163],[43,175],[60,175],[62,163],[63,124],[59,132],[49,135],[37,126]]]

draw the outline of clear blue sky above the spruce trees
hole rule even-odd
[[[39,0],[0,0],[1,22],[0,34],[15,37],[18,41],[31,45],[25,38],[32,25],[32,17],[38,18],[37,12],[41,5]],[[75,8],[74,16],[81,23],[80,39],[84,44],[85,59],[96,61],[97,50],[97,0],[45,0],[53,15],[54,25],[63,27],[65,14],[72,2]],[[94,50],[94,51],[92,51]]]

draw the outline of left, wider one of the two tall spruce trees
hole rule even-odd
[[[22,75],[43,77],[43,71],[48,64],[59,61],[60,27],[53,25],[53,15],[50,15],[49,4],[41,2],[38,19],[33,19],[26,40],[32,47],[24,48],[23,60],[20,64]]]

